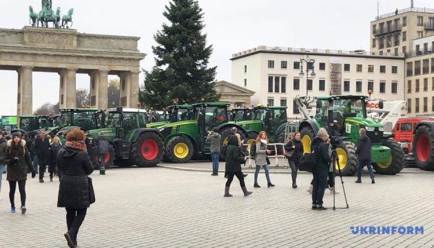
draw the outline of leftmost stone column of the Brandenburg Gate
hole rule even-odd
[[[17,116],[33,113],[33,68],[23,66],[18,72]]]

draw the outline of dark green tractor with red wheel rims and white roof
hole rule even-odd
[[[101,125],[89,130],[92,138],[98,138],[99,132],[110,142],[105,156],[105,167],[113,164],[121,167],[152,167],[163,158],[163,136],[154,128],[147,128],[145,110],[123,107],[108,110],[107,123],[105,114],[99,116]]]

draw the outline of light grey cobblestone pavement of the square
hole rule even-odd
[[[209,163],[210,164],[210,163]],[[275,188],[254,188],[242,196],[238,180],[232,198],[223,198],[225,178],[207,172],[114,168],[95,173],[96,203],[87,211],[79,247],[433,247],[434,174],[404,169],[396,176],[364,172],[362,184],[344,178],[349,209],[311,210],[306,192],[311,174],[301,173],[298,189],[287,174],[271,174]],[[56,207],[59,183],[28,180],[26,214],[10,213],[3,175],[0,247],[67,247],[65,209]],[[338,179],[338,178],[337,178]],[[338,180],[338,190],[342,185]],[[19,205],[19,194],[16,194]],[[332,207],[326,190],[324,206]],[[345,207],[344,195],[336,205]],[[423,226],[424,234],[351,234],[351,226]]]

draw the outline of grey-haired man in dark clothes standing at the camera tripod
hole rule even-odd
[[[316,156],[316,165],[313,168],[313,191],[312,191],[312,209],[327,210],[322,206],[322,198],[327,187],[327,176],[329,173],[331,158],[329,155],[329,146],[325,143],[329,139],[327,131],[318,131],[317,137],[313,139],[311,151]]]

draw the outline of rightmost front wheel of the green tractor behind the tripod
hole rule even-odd
[[[386,175],[395,175],[401,172],[405,165],[405,154],[401,145],[392,139],[385,139],[381,145],[391,149],[391,158],[385,163],[372,163],[375,172]]]

